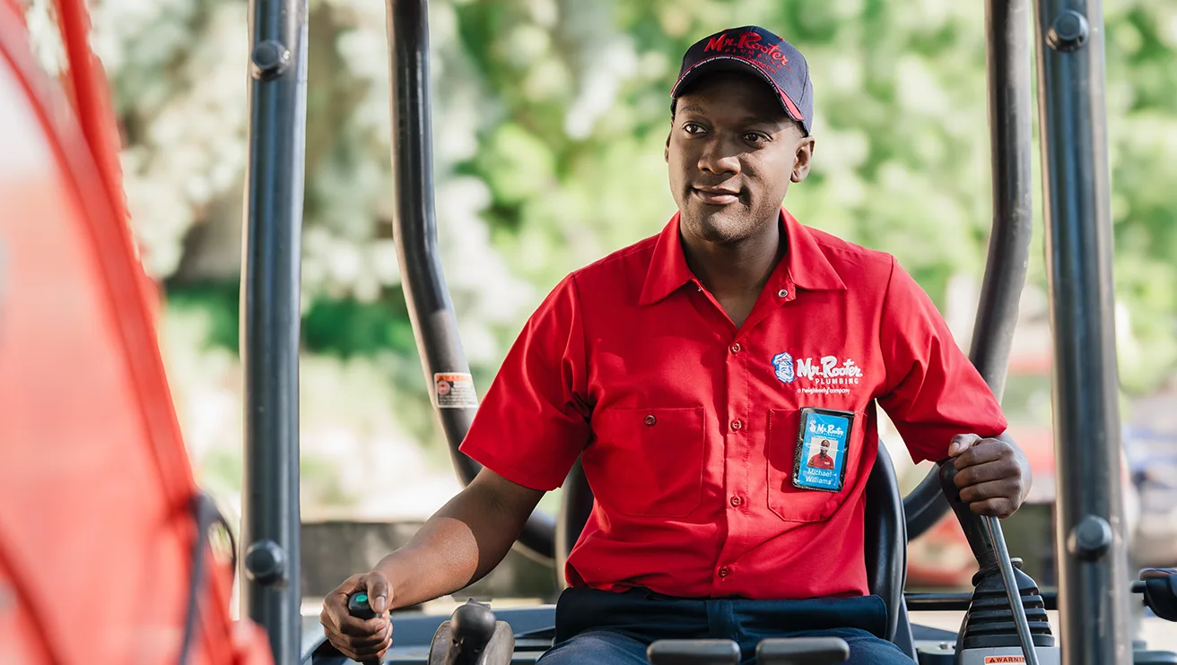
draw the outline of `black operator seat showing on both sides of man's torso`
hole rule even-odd
[[[907,580],[907,525],[895,465],[879,442],[875,466],[866,481],[866,580],[871,593],[883,598],[887,610],[886,638],[916,659],[915,639],[907,620],[903,587]],[[564,502],[556,531],[556,577],[563,589],[564,564],[592,512],[593,496],[580,462],[564,483]]]

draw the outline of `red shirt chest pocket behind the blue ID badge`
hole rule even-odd
[[[855,491],[862,475],[863,446],[865,445],[864,428],[865,411],[855,411],[850,436],[847,437],[847,450],[842,489],[837,492],[802,489],[793,485],[793,468],[797,464],[797,439],[800,430],[802,412],[790,409],[773,409],[769,411],[769,428],[766,435],[767,459],[767,503],[769,510],[785,522],[825,522],[833,517]],[[812,450],[804,450],[802,459],[805,463],[810,459]],[[822,464],[827,462],[829,464]],[[833,458],[813,457],[810,459],[811,468],[833,469]]]

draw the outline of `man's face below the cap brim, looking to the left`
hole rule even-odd
[[[813,139],[751,74],[711,74],[678,99],[666,163],[685,234],[732,243],[777,223],[790,182],[809,174]]]

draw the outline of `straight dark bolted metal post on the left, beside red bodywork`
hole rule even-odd
[[[250,162],[241,266],[245,491],[241,613],[274,663],[300,653],[299,280],[306,0],[250,1]]]

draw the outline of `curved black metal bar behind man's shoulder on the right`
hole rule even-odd
[[[969,358],[1000,399],[1033,235],[1028,0],[986,0],[985,53],[993,224]],[[918,537],[947,511],[933,469],[904,499],[907,537]],[[979,522],[975,532],[984,533]]]

